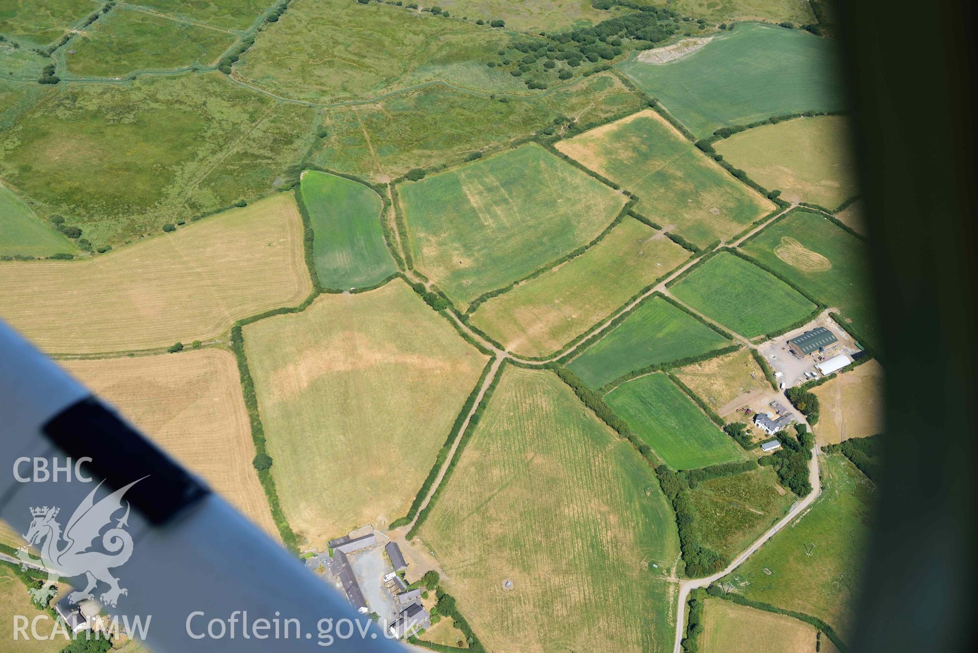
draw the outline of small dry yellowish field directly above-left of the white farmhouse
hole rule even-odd
[[[730,406],[737,397],[748,392],[771,390],[771,385],[764,377],[764,370],[761,370],[750,355],[750,350],[746,348],[694,363],[676,370],[675,374],[720,416],[740,408]]]

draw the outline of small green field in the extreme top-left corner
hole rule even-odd
[[[47,45],[99,9],[94,0],[0,0],[0,34],[22,46]]]

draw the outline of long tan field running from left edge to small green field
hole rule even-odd
[[[212,338],[311,290],[282,194],[95,259],[0,264],[0,317],[47,352],[116,352]]]

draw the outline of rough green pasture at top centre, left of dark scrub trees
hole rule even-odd
[[[338,102],[443,81],[480,93],[526,92],[486,59],[502,30],[350,0],[293,0],[235,72],[297,100]]]

